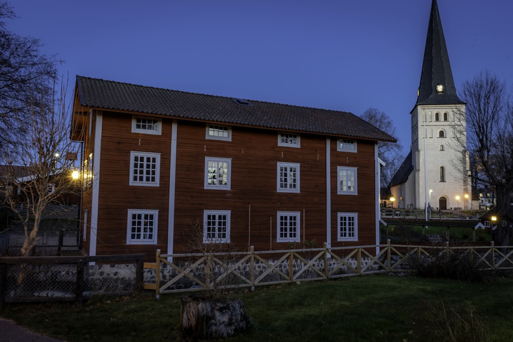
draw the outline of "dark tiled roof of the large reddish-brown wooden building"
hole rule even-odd
[[[196,94],[77,76],[80,104],[90,108],[168,115],[231,125],[350,136],[396,142],[360,117],[327,109]]]

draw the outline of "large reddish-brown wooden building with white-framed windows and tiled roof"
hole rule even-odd
[[[83,248],[163,254],[379,243],[379,140],[347,112],[77,76]]]

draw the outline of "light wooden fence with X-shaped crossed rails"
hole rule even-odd
[[[379,252],[376,251],[379,249]],[[410,273],[421,261],[451,255],[468,257],[482,270],[513,269],[513,246],[385,245],[281,251],[161,254],[154,269],[155,283],[145,289],[161,293],[254,287],[297,281],[324,280],[373,273]]]

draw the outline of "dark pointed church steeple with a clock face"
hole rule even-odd
[[[463,104],[456,94],[437,0],[431,4],[417,105]]]

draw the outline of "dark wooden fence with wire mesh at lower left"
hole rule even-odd
[[[0,257],[3,303],[123,295],[143,287],[144,254]]]

